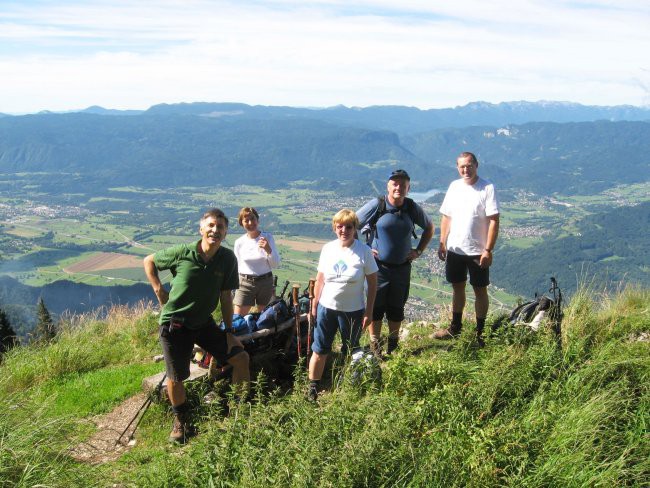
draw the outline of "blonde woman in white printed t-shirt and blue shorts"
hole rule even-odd
[[[341,333],[341,352],[348,354],[359,347],[361,331],[372,323],[378,268],[370,247],[355,239],[358,227],[359,219],[354,211],[340,210],[332,218],[337,239],[321,250],[311,309],[316,316],[313,354],[309,361],[308,396],[312,400],[318,396],[336,331]]]

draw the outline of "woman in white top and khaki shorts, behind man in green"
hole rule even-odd
[[[265,307],[273,299],[272,269],[280,264],[273,236],[259,229],[260,216],[253,207],[239,211],[239,225],[246,234],[235,241],[233,251],[239,268],[239,288],[233,312],[246,315],[253,305]]]

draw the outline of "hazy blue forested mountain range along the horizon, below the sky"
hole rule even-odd
[[[647,172],[638,155],[650,149],[649,114],[527,102],[427,111],[192,103],[124,114],[91,107],[0,118],[0,172],[74,175],[74,185],[99,187],[310,180],[356,194],[398,166],[408,168],[414,189],[444,187],[455,177],[455,157],[470,150],[483,162],[481,174],[501,188],[585,193]],[[589,117],[645,121],[566,122]],[[532,118],[555,121],[525,122]],[[65,187],[65,178],[55,178]]]

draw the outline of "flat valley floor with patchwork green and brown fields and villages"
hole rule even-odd
[[[505,193],[498,246],[531,249],[547,236],[574,235],[580,219],[603,206],[644,201],[649,187],[637,184],[591,196],[552,198]],[[105,194],[67,194],[63,199],[67,203],[50,205],[39,202],[28,190],[12,198],[0,195],[2,272],[31,286],[56,280],[95,286],[146,283],[142,258],[198,239],[199,209],[219,206],[226,211],[231,225],[225,245],[232,246],[241,234],[236,222],[238,209],[255,206],[262,228],[273,232],[282,256],[283,264],[277,270],[278,292],[285,281],[304,287],[316,275],[323,243],[334,237],[331,216],[342,207],[358,208],[369,198],[253,186],[173,190],[121,187]],[[438,223],[439,203],[423,206]],[[414,267],[411,295],[420,308],[446,306],[449,301],[451,288],[444,281],[434,244]],[[498,265],[498,252],[496,259]],[[504,306],[516,300],[499,288],[492,289],[491,295],[495,304]]]

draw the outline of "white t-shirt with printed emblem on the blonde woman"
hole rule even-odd
[[[318,261],[318,271],[325,278],[319,303],[339,312],[362,310],[366,275],[377,270],[372,250],[365,244],[356,239],[350,247],[341,246],[338,239],[328,242]]]

